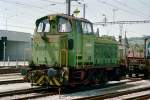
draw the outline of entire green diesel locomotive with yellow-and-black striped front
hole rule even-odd
[[[36,21],[26,78],[50,86],[119,80],[125,76],[125,66],[120,64],[118,47],[112,37],[97,37],[86,19],[65,14],[42,17]]]

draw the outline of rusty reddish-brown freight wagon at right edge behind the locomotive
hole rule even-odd
[[[128,51],[127,68],[130,77],[139,77],[143,74],[144,78],[150,76],[150,37],[144,39],[144,52],[135,50]]]

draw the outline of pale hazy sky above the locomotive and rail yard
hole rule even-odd
[[[80,2],[80,3],[79,3]],[[71,13],[80,10],[83,17],[83,4],[86,5],[86,19],[91,22],[142,21],[150,20],[150,0],[78,0],[71,2]],[[66,13],[65,0],[0,0],[0,30],[14,30],[34,33],[35,20],[45,15]],[[95,26],[100,35],[118,37],[118,24]],[[150,23],[125,24],[123,35],[141,37],[150,35]]]

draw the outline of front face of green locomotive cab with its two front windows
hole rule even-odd
[[[47,16],[36,21],[36,30],[33,38],[33,62],[36,66],[58,67],[60,63],[66,65],[68,33],[72,26],[67,18]],[[72,43],[73,46],[73,43]],[[61,59],[63,58],[65,59]],[[65,56],[65,57],[64,57]],[[61,59],[61,61],[60,61]]]

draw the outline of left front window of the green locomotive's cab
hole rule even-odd
[[[38,24],[37,32],[50,32],[50,22],[48,19],[42,20]]]

